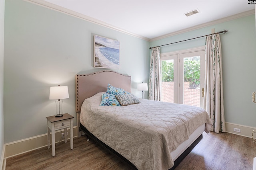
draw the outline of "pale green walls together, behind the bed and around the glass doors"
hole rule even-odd
[[[92,63],[94,35],[120,41],[121,68],[116,71],[132,76],[132,93],[141,97],[136,86],[148,82],[149,47],[206,35],[212,28],[229,30],[221,35],[226,121],[256,127],[256,104],[251,101],[256,92],[254,15],[149,43],[29,2],[8,0],[5,7],[5,143],[46,133],[45,117],[55,112],[54,102],[48,100],[50,86],[68,86],[70,98],[64,100],[63,110],[76,117],[75,74],[102,70]],[[166,53],[202,45],[204,38],[160,50]]]

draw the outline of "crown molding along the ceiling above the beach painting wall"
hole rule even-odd
[[[114,29],[114,30],[122,32],[122,33],[125,33],[125,34],[128,34],[128,35],[132,35],[134,37],[137,37],[137,38],[140,38],[140,39],[144,39],[146,41],[150,41],[150,39],[147,38],[147,37],[131,33],[131,32],[126,31],[124,29],[121,29],[121,28],[115,27],[115,26],[113,26],[111,24],[108,24],[108,23],[106,23],[104,21],[97,20],[95,18],[86,16],[84,14],[80,14],[78,12],[74,12],[74,11],[69,10],[67,8],[64,8],[64,7],[52,4],[50,2],[46,2],[44,0],[23,0],[23,1],[30,2],[32,4],[36,4],[36,5],[39,5],[39,6],[43,6],[45,8],[51,9],[51,10],[55,10],[55,11],[58,11],[58,12],[61,12],[61,13],[64,13],[64,14],[68,14],[70,16],[74,16],[74,17],[80,18],[82,20],[86,20],[86,21],[89,21],[89,22],[92,22],[92,23],[96,23],[98,25],[101,25],[101,26],[104,26],[104,27],[107,27],[107,28],[110,28],[110,29]]]

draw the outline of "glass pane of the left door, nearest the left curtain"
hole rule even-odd
[[[162,61],[161,101],[174,102],[174,60]]]

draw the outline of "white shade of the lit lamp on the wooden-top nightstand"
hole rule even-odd
[[[50,87],[50,100],[59,100],[67,99],[68,95],[68,86],[52,86]]]

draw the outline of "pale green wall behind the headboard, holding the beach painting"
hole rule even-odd
[[[55,114],[50,86],[67,85],[63,111],[76,117],[75,75],[93,67],[93,36],[120,41],[120,73],[137,83],[148,81],[149,42],[21,0],[5,6],[4,141],[47,132],[46,116]],[[74,120],[76,125],[76,119]]]

